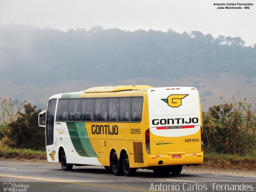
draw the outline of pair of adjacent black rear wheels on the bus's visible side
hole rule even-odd
[[[116,152],[112,154],[111,168],[114,175],[132,176],[136,172],[135,168],[130,168],[129,157],[126,152],[119,159]]]

